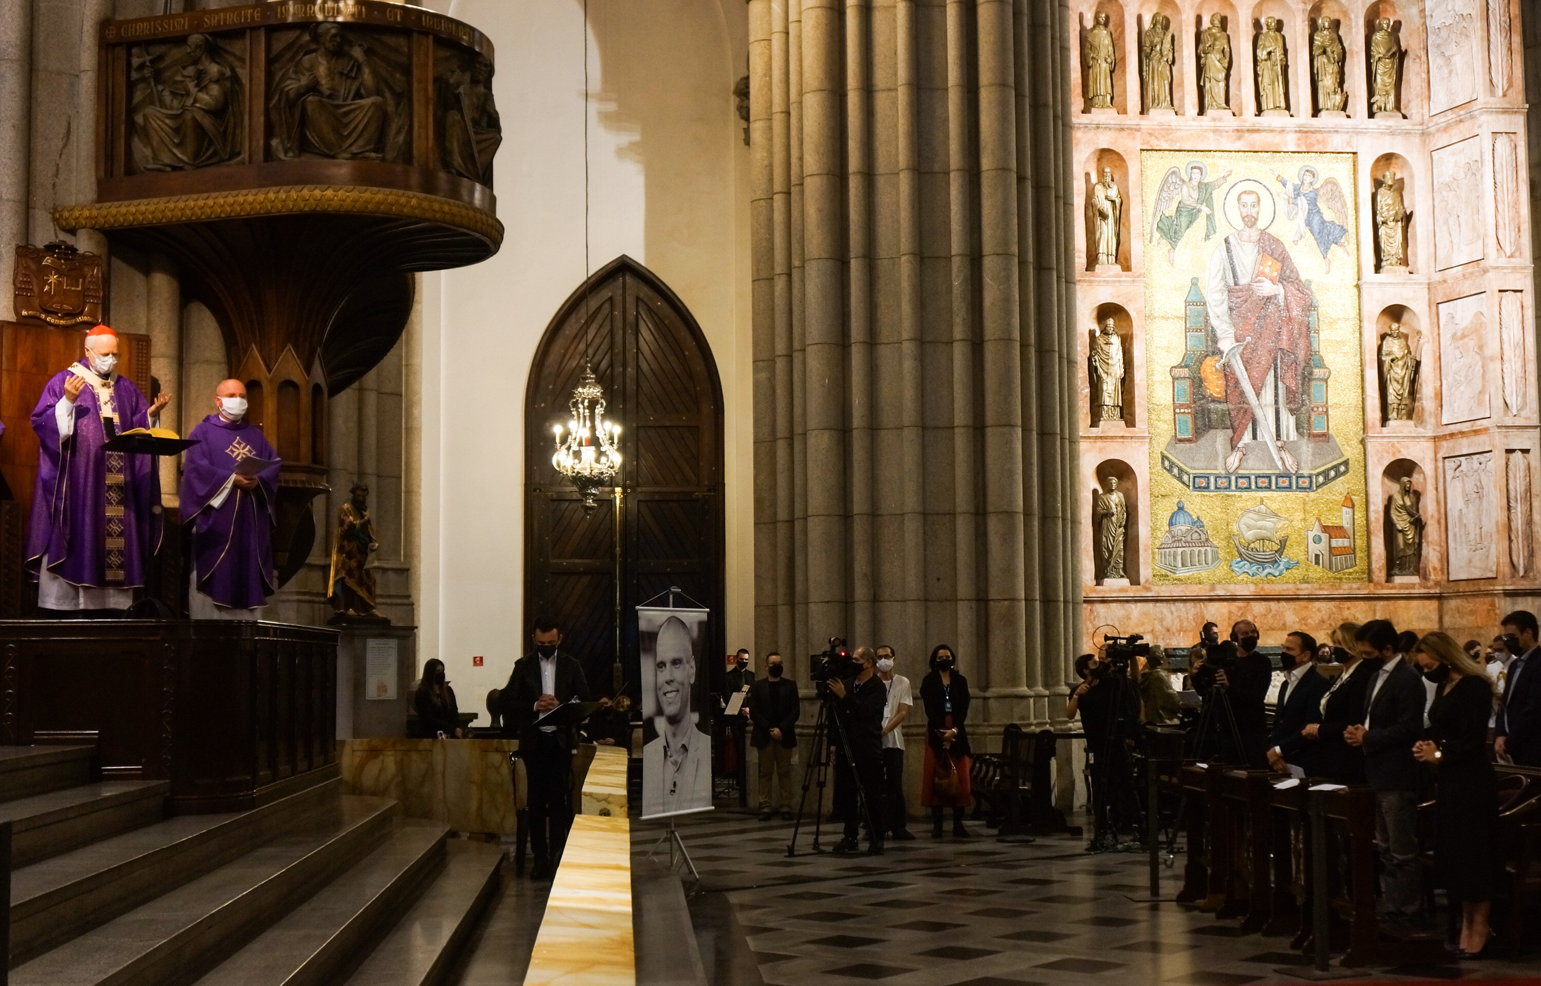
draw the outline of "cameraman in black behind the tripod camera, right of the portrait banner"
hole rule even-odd
[[[855,761],[846,763],[844,749],[840,738],[831,735],[835,746],[835,810],[846,823],[844,838],[835,846],[835,852],[858,852],[857,833],[860,826],[869,818],[877,824],[868,830],[868,852],[881,855],[883,823],[888,818],[883,798],[883,706],[888,703],[888,687],[877,676],[877,658],[871,647],[857,647],[851,658],[860,666],[855,678],[829,681],[829,701],[834,703],[834,713],[851,744],[851,756]],[[834,730],[831,730],[834,733]],[[866,815],[857,801],[855,781],[861,783],[861,795],[866,798]]]

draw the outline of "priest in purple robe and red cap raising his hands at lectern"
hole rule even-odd
[[[32,408],[39,451],[26,570],[46,610],[126,610],[160,547],[156,456],[102,445],[153,427],[171,394],[149,402],[116,367],[117,333],[97,325],[80,362],[55,373]]]

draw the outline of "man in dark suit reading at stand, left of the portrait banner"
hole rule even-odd
[[[572,726],[541,726],[541,715],[573,699],[589,701],[578,658],[562,653],[562,633],[552,616],[539,616],[530,635],[535,652],[519,658],[499,693],[504,733],[519,740],[519,758],[527,781],[530,849],[535,880],[550,880],[572,827],[572,764],[578,730]]]

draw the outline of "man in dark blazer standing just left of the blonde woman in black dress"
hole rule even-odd
[[[1375,843],[1381,854],[1381,909],[1392,924],[1424,921],[1424,874],[1418,864],[1418,795],[1424,769],[1413,744],[1424,735],[1424,676],[1396,652],[1396,627],[1371,619],[1359,627],[1359,653],[1381,658],[1370,682],[1364,724],[1344,741],[1364,750],[1364,778],[1375,787]]]

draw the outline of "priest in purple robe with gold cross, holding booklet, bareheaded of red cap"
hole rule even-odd
[[[225,381],[216,413],[193,428],[197,445],[182,462],[182,516],[193,527],[193,619],[257,619],[277,590],[273,528],[277,525],[279,456],[247,421],[247,388]],[[271,465],[240,470],[248,458]]]

